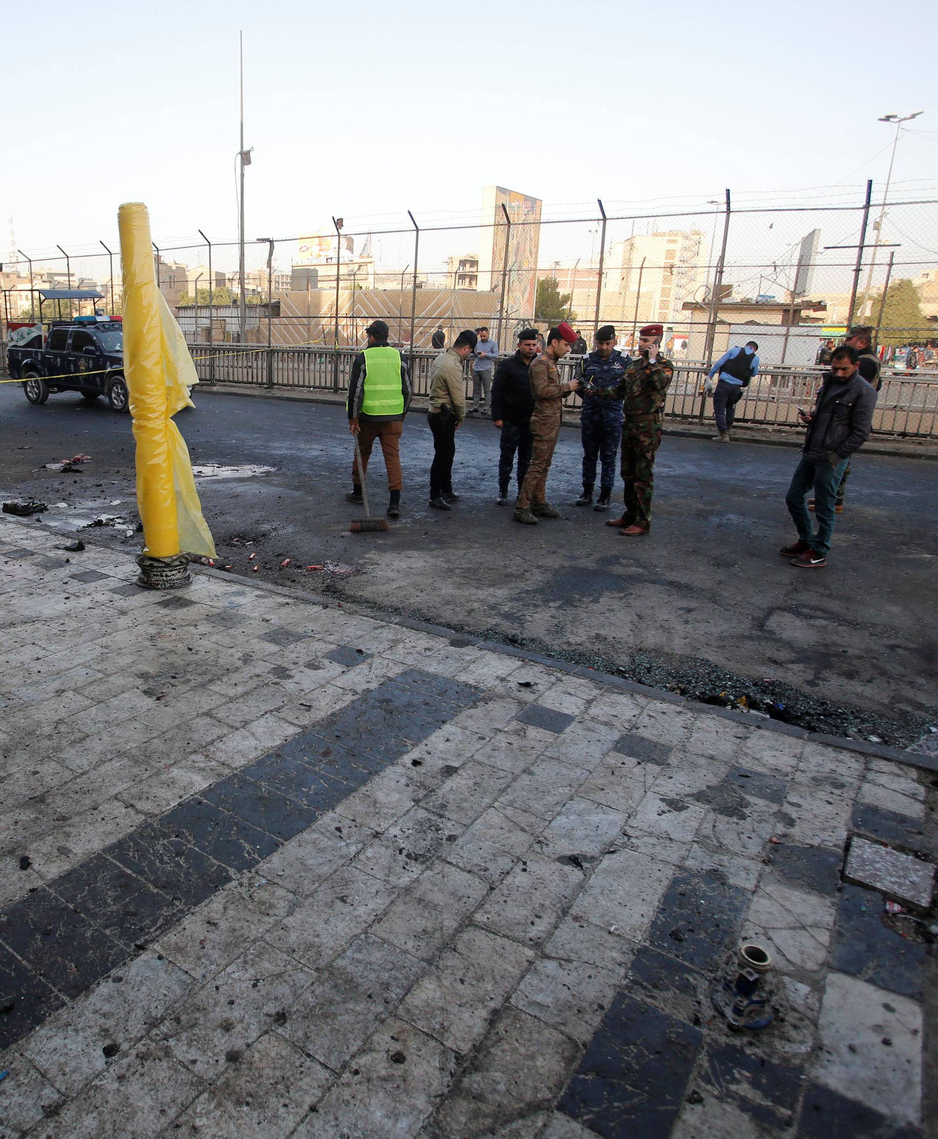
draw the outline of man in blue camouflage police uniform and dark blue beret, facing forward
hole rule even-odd
[[[603,325],[596,333],[596,351],[584,357],[579,377],[593,387],[614,387],[622,378],[630,357],[615,347],[615,329]],[[615,486],[615,457],[622,440],[622,401],[599,400],[585,394],[580,411],[580,439],[584,445],[584,492],[577,506],[589,506],[596,483],[596,460],[599,460],[599,498],[594,510],[607,510]]]

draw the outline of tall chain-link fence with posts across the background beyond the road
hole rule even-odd
[[[566,319],[592,346],[609,323],[627,350],[660,322],[677,364],[669,415],[701,415],[705,370],[755,339],[762,374],[737,420],[784,424],[810,400],[825,343],[863,322],[884,364],[878,429],[936,433],[938,199],[883,203],[870,183],[808,204],[726,191],[680,212],[597,202],[592,215],[548,218],[537,199],[496,191],[481,220],[462,224],[408,214],[397,227],[339,220],[312,237],[250,241],[243,273],[237,243],[197,232],[154,256],[199,371],[215,383],[341,391],[376,318],[410,358],[418,392],[426,353],[463,328],[487,326],[504,354],[528,326],[544,333]],[[21,254],[0,277],[5,339],[17,322],[90,311],[88,301],[44,300],[50,288],[95,288],[101,310],[121,309],[114,245]]]

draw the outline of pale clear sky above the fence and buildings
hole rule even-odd
[[[49,0],[36,23],[18,5],[3,18],[0,251],[9,218],[31,255],[116,248],[124,200],[147,204],[161,246],[235,238],[239,30],[248,238],[332,215],[409,227],[408,208],[472,222],[490,183],[548,216],[726,187],[856,199],[886,179],[878,116],[912,110],[922,133],[902,136],[894,185],[936,197],[938,99],[916,48],[932,15],[925,0]]]

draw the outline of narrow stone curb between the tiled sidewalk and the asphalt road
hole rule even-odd
[[[212,566],[193,564],[190,567],[196,573],[205,574],[210,577],[219,577],[226,581],[237,579],[238,584],[247,584],[254,589],[264,590],[270,593],[278,593],[289,597],[293,600],[305,601],[310,605],[319,605],[324,608],[329,606],[341,606],[350,613],[375,620],[375,613],[380,609],[357,601],[336,601],[332,597],[324,597],[320,593],[310,593],[305,590],[296,589],[293,585],[276,585],[274,582],[253,581],[243,574],[230,573],[225,570],[215,570]],[[569,661],[557,661],[554,657],[544,656],[539,653],[531,653],[528,649],[516,648],[514,645],[503,645],[499,641],[487,640],[483,637],[471,637],[458,633],[446,625],[435,625],[429,621],[419,621],[415,617],[401,617],[395,614],[384,614],[377,620],[388,624],[400,625],[402,629],[410,629],[414,632],[429,633],[432,637],[440,637],[452,645],[460,647],[478,647],[489,653],[498,653],[500,656],[514,656],[521,661],[529,661],[532,664],[543,664],[558,672],[565,672],[572,677],[581,677],[586,680],[605,685],[607,688],[615,688],[619,691],[634,693],[647,699],[662,700],[676,706],[693,708],[694,712],[704,712],[709,715],[719,716],[721,720],[731,720],[735,723],[745,724],[749,728],[758,728],[761,731],[775,732],[780,736],[793,736],[797,739],[805,739],[810,744],[823,744],[827,747],[839,747],[846,752],[858,752],[878,760],[891,760],[894,763],[902,763],[906,767],[917,768],[920,771],[938,772],[938,757],[919,755],[914,752],[900,752],[896,747],[886,747],[882,744],[870,744],[863,739],[846,739],[840,736],[829,736],[826,732],[807,731],[790,723],[782,723],[778,720],[764,720],[761,716],[753,718],[748,712],[736,712],[733,708],[715,707],[712,704],[703,704],[693,700],[688,696],[679,696],[677,693],[669,693],[663,688],[653,688],[651,685],[642,685],[636,680],[626,680],[623,677],[615,677],[610,672],[599,672],[595,669],[587,669],[581,664],[571,664]]]

